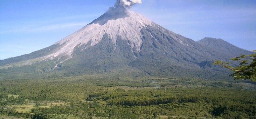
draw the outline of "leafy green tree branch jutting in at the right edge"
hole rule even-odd
[[[256,81],[256,50],[253,50],[251,55],[240,55],[238,57],[231,58],[232,61],[238,61],[239,65],[232,67],[230,62],[224,62],[216,60],[213,64],[218,64],[222,67],[231,69],[234,71],[230,76],[234,79],[252,80]]]

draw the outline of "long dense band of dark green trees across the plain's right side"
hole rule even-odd
[[[225,91],[225,92],[223,92]],[[244,93],[243,93],[244,92]],[[251,91],[249,91],[251,92]],[[230,94],[225,94],[230,93]],[[235,94],[237,95],[235,95]],[[253,93],[253,91],[251,92]],[[248,95],[245,95],[248,94]],[[156,105],[171,102],[199,102],[204,101],[215,105],[227,105],[227,102],[239,102],[241,104],[252,104],[255,98],[249,97],[248,91],[239,90],[228,91],[226,89],[155,89],[155,90],[128,90],[116,89],[115,91],[105,91],[90,94],[88,101],[103,99],[109,105]],[[255,95],[255,94],[254,94]]]

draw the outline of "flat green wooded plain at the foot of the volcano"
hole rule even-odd
[[[255,118],[255,84],[123,74],[0,80],[0,117]]]

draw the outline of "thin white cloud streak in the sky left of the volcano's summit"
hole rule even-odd
[[[96,14],[76,15],[61,17],[56,19],[36,19],[30,21],[22,21],[21,23],[0,23],[2,26],[9,24],[9,27],[0,27],[0,34],[5,33],[28,33],[41,32],[47,30],[69,29],[73,27],[84,26],[98,17]],[[11,24],[12,23],[12,24]]]

